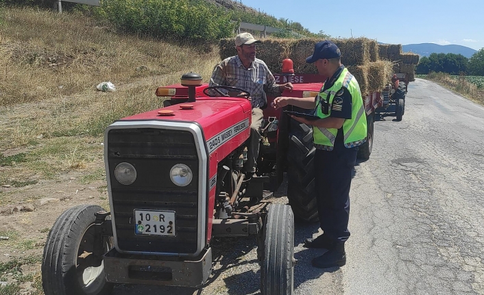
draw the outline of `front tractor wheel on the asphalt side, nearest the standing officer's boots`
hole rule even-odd
[[[293,294],[294,216],[291,207],[282,204],[269,205],[264,220],[263,238],[261,294]]]

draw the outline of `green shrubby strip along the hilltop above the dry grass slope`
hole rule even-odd
[[[53,8],[54,0],[0,0],[5,5]],[[232,0],[110,0],[101,7],[64,2],[64,10],[81,10],[108,18],[117,27],[143,34],[178,40],[216,42],[232,36],[237,22],[278,27],[279,38],[326,38],[289,18],[276,18]],[[297,33],[297,34],[293,34]],[[302,36],[301,36],[302,35]]]

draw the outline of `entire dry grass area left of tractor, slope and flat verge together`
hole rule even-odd
[[[96,170],[110,123],[161,107],[156,87],[182,73],[208,81],[219,62],[216,47],[118,34],[77,14],[3,8],[0,19],[0,154],[26,159],[0,165],[0,185]],[[95,90],[102,81],[117,91]]]

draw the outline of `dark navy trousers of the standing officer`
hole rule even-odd
[[[317,149],[314,157],[319,222],[324,235],[337,243],[350,237],[350,185],[358,148],[336,143],[332,151]]]

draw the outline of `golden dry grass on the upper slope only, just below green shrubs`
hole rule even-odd
[[[1,13],[1,105],[77,94],[101,81],[123,84],[189,70],[214,54],[116,34],[80,15],[29,8]]]

